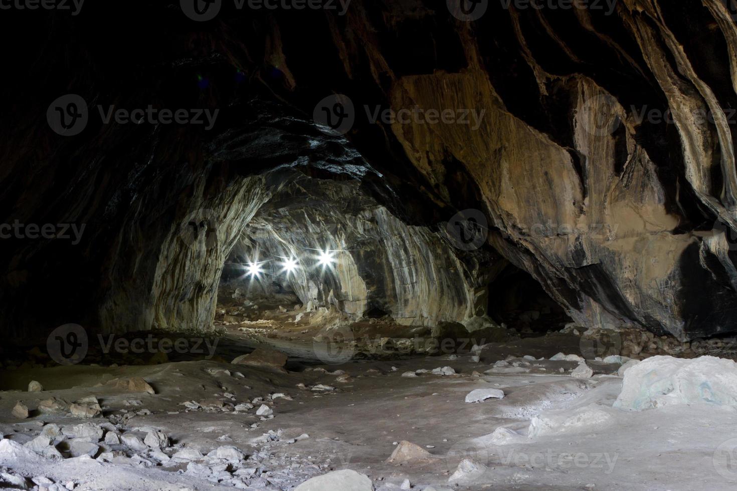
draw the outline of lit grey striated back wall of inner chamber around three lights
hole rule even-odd
[[[436,325],[486,314],[475,292],[486,288],[490,255],[458,257],[428,227],[406,225],[360,181],[270,177],[286,183],[259,209],[234,252],[263,264],[265,280],[283,278],[304,305],[332,305],[352,317],[389,314],[400,324]],[[328,250],[334,262],[319,264]],[[284,258],[298,260],[283,271]]]

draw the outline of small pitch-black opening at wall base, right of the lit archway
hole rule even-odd
[[[489,285],[489,317],[523,336],[560,331],[573,322],[565,310],[523,269],[508,264]]]

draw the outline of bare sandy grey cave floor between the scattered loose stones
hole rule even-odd
[[[312,476],[344,468],[366,474],[377,490],[399,490],[405,479],[417,490],[430,486],[435,490],[727,490],[737,484],[737,468],[730,459],[737,448],[737,411],[731,407],[612,409],[621,389],[621,378],[611,375],[618,364],[590,362],[593,378],[573,378],[575,361],[510,358],[509,367],[483,373],[511,355],[550,357],[566,344],[570,350],[562,351],[575,353],[576,339],[556,334],[494,345],[482,351],[480,361],[464,353],[321,364],[304,339],[283,338],[254,337],[232,328],[218,355],[242,353],[243,346],[270,340],[293,355],[288,372],[202,360],[19,368],[2,375],[0,431],[7,439],[29,442],[41,432],[42,423],[111,422],[116,432],[141,437],[156,428],[170,437],[170,446],[163,452],[167,456],[183,448],[203,454],[221,445],[239,448],[246,459],[223,470],[226,475],[248,470],[241,471],[239,480],[198,474],[194,466],[187,470],[186,461],[157,462],[146,451],[102,442],[97,459],[47,460],[0,451],[0,466],[27,478],[74,481],[77,490],[234,489],[234,482],[242,489],[288,490]],[[437,367],[452,367],[456,373],[402,377],[404,372]],[[349,377],[332,373],[335,370]],[[144,378],[156,394],[96,386],[132,376]],[[41,382],[43,392],[22,392],[31,380]],[[310,389],[318,384],[335,389]],[[465,396],[479,388],[502,389],[505,396],[465,403]],[[270,400],[276,392],[292,400]],[[100,401],[101,417],[80,420],[34,411],[39,400],[49,397],[73,401],[86,396]],[[233,411],[238,403],[256,398],[265,399],[273,418],[264,420],[255,414],[259,400],[253,409]],[[10,416],[17,400],[24,400],[31,410],[27,420]],[[200,408],[186,409],[181,406],[185,401],[197,402]],[[531,420],[541,415],[543,420],[550,416],[553,423],[540,434],[528,434]],[[497,428],[515,433],[495,434]],[[303,434],[309,437],[296,439]],[[386,462],[402,440],[422,446],[432,457],[403,464]],[[57,446],[64,448],[63,439]],[[99,456],[116,450],[125,456],[115,463],[103,462]],[[153,465],[130,459],[135,455]],[[464,457],[485,465],[485,470],[466,481],[449,483]],[[212,465],[212,459],[201,462]]]

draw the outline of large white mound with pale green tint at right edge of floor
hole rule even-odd
[[[673,404],[737,406],[737,363],[715,356],[653,356],[624,373],[614,407],[642,411]]]

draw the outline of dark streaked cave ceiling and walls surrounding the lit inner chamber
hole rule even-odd
[[[18,75],[2,95],[18,117],[1,121],[1,222],[85,225],[77,244],[1,241],[4,327],[206,328],[248,226],[261,250],[346,249],[329,283],[298,289],[352,314],[467,318],[493,279],[493,265],[478,267],[493,247],[581,325],[734,331],[730,2],[504,3],[473,21],[443,1],[353,0],[344,15],[225,6],[197,22],[163,2],[143,17],[91,7],[46,17],[53,29],[0,29],[34,53],[11,54]],[[133,21],[150,37],[105,35]],[[220,113],[205,130],[104,124],[92,107],[64,137],[43,119],[65,93]],[[354,109],[345,139],[304,122],[332,93]],[[310,184],[273,180],[287,168]],[[299,186],[321,199],[300,207]],[[489,225],[478,256],[444,245],[444,223],[469,208]]]

